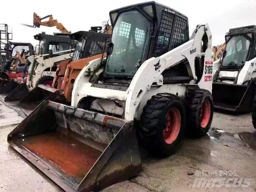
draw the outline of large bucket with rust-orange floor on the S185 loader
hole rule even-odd
[[[133,122],[42,102],[7,138],[65,191],[100,191],[142,171]]]

